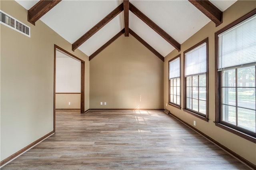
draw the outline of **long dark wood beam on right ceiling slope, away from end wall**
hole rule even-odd
[[[152,28],[156,33],[158,33],[164,40],[170,43],[174,48],[180,51],[180,43],[174,40],[169,34],[167,34],[162,28],[156,25],[152,20],[150,20],[146,15],[144,15],[138,8],[132,5],[129,2],[129,9],[132,13],[134,13],[138,18],[140,18],[143,22],[145,22],[150,28]]]

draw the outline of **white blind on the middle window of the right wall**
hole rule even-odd
[[[206,73],[206,43],[185,53],[185,76]]]

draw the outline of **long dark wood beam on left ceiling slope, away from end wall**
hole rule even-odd
[[[108,22],[110,22],[113,18],[115,18],[120,12],[124,10],[124,4],[120,4],[116,9],[110,12],[105,18],[103,18],[98,24],[92,27],[88,32],[86,32],[82,37],[80,37],[76,42],[72,44],[72,51],[77,49],[80,45],[82,45],[86,40],[88,40],[91,36],[93,36],[98,30],[104,27]]]

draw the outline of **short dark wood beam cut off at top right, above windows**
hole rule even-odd
[[[208,0],[188,0],[210,20],[212,20],[216,26],[222,23],[222,11],[219,10],[214,4]]]

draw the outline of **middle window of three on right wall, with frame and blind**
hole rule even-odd
[[[184,51],[184,110],[208,121],[208,38]]]

